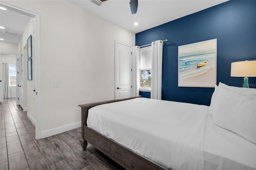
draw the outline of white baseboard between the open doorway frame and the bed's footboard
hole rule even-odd
[[[72,130],[74,128],[78,128],[81,127],[81,121],[80,122],[76,122],[76,123],[72,123],[69,125],[65,125],[62,127],[57,127],[57,128],[52,128],[50,130],[45,130],[41,132],[41,138],[46,138],[55,134],[60,134],[62,132],[66,132],[68,130]]]

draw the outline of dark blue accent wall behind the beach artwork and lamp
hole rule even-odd
[[[230,77],[230,67],[234,61],[256,59],[256,1],[231,0],[136,34],[139,46],[168,39],[163,47],[163,100],[210,105],[214,88],[178,87],[178,46],[214,38],[217,85],[242,87],[243,77]],[[256,77],[249,77],[249,84],[256,88]]]

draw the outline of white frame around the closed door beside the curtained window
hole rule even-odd
[[[121,45],[125,45],[125,46],[127,46],[127,47],[131,47],[131,49],[132,49],[132,46],[130,46],[130,45],[127,45],[127,44],[125,44],[125,43],[121,43],[121,42],[118,42],[118,41],[115,41],[115,84],[114,84],[114,87],[115,87],[115,99],[116,99],[116,93],[117,93],[117,89],[116,89],[116,84],[117,84],[117,82],[116,82],[116,75],[117,75],[117,70],[116,70],[116,56],[117,56],[117,51],[116,51],[116,44],[121,44]],[[131,66],[132,66],[132,73],[131,73],[131,78],[130,78],[130,81],[131,81],[131,85],[132,85],[132,89],[131,89],[131,91],[130,91],[130,97],[132,97],[132,96],[134,96],[134,88],[135,88],[135,86],[134,86],[134,72],[135,72],[135,67],[134,67],[134,52],[133,52],[133,49],[132,49],[132,59],[131,59]]]

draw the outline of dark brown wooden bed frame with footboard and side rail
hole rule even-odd
[[[82,148],[83,150],[86,150],[86,146],[88,144],[87,142],[89,142],[90,144],[92,144],[92,146],[96,147],[98,150],[106,154],[109,158],[111,158],[112,160],[120,164],[125,169],[168,170],[163,166],[149,160],[148,158],[132,151],[131,149],[87,127],[86,121],[88,117],[88,110],[90,108],[97,105],[124,101],[124,100],[129,100],[134,98],[137,98],[137,97],[79,105],[82,109],[82,138],[80,139]]]

